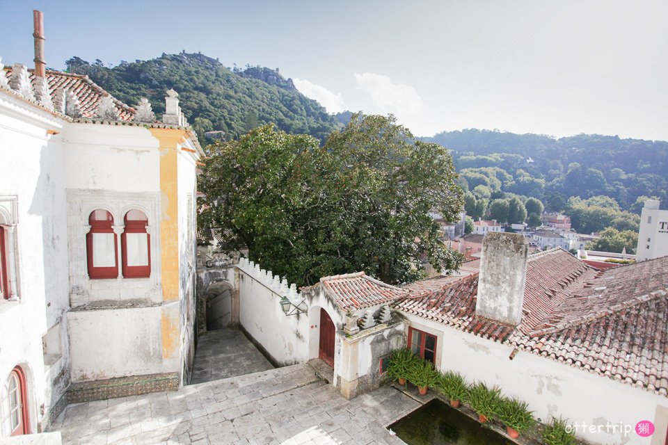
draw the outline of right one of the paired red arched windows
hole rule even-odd
[[[148,278],[151,275],[148,218],[141,210],[125,213],[125,230],[120,236],[122,270],[125,278]]]

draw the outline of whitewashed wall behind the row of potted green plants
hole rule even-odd
[[[498,385],[506,396],[517,396],[527,402],[543,421],[563,416],[571,423],[584,422],[587,426],[618,425],[617,430],[610,428],[610,432],[605,432],[605,428],[601,432],[580,430],[578,436],[592,444],[654,445],[651,438],[639,437],[635,432],[624,437],[619,423],[630,428],[635,428],[641,420],[665,425],[665,419],[657,418],[661,407],[668,410],[665,396],[531,353],[519,351],[511,360],[510,346],[410,314],[406,316],[412,327],[437,334],[436,362],[441,370],[458,371],[468,382],[482,380],[488,385]],[[655,437],[665,437],[663,428]]]

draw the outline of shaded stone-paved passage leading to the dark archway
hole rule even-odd
[[[191,384],[273,369],[243,332],[220,329],[198,339]]]

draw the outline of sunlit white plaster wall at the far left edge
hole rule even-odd
[[[18,301],[0,301],[0,384],[22,366],[33,432],[70,379],[67,336],[56,342],[60,352],[48,364],[42,353],[42,336],[51,327],[63,329],[68,307],[63,145],[60,136],[47,134],[64,126],[49,113],[0,97],[0,199],[16,202],[19,295]]]

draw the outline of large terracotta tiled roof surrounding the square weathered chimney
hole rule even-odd
[[[478,275],[395,304],[571,366],[668,395],[668,257],[597,271],[562,249],[530,255],[522,323],[475,316]]]

